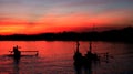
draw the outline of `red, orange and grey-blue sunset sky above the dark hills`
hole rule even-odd
[[[0,0],[0,34],[133,25],[133,0]]]

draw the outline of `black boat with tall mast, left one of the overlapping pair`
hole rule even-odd
[[[82,56],[82,54],[79,51],[79,46],[80,46],[80,43],[78,41],[76,42],[76,51],[74,52],[73,59],[74,59],[74,65],[79,65],[80,66],[80,65],[82,65],[83,56]]]

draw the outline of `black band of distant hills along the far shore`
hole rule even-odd
[[[35,35],[13,34],[0,35],[0,40],[24,40],[24,41],[125,41],[133,42],[133,28],[127,27],[120,30],[110,30],[103,32],[61,32],[61,33],[41,33]]]

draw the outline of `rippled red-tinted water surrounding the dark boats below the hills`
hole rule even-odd
[[[17,64],[9,54],[14,45],[21,51],[39,51],[38,57],[21,57]],[[93,42],[93,52],[109,52],[113,57],[109,62],[92,63],[81,74],[133,74],[133,44]],[[0,74],[76,74],[73,66],[75,42],[47,41],[0,41]],[[89,42],[80,42],[80,51],[85,54]],[[28,54],[28,53],[22,53]],[[33,53],[31,53],[33,54]]]

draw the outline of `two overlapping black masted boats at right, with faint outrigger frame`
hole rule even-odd
[[[90,42],[89,51],[85,55],[82,55],[82,53],[79,50],[80,43],[76,42],[76,51],[74,52],[73,60],[75,66],[86,65],[89,63],[95,63],[95,62],[109,62],[109,59],[113,56],[109,55],[109,52],[106,53],[92,53],[92,43]]]

